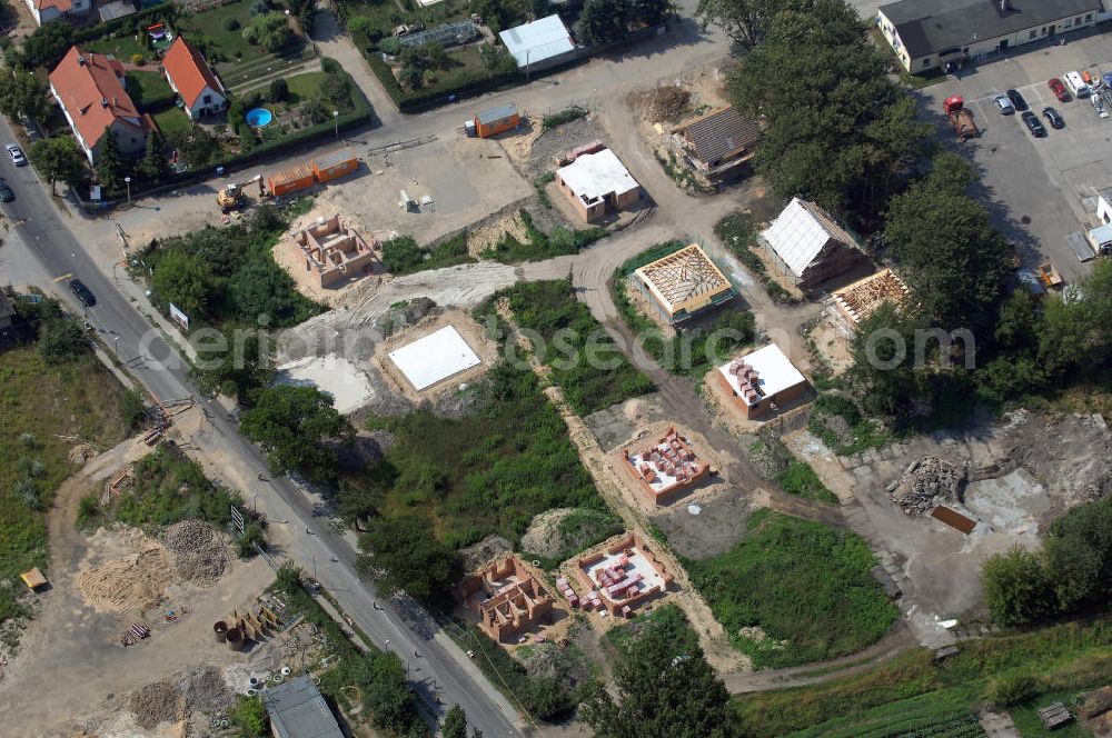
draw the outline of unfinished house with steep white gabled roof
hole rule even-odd
[[[792,198],[761,241],[800,289],[810,289],[861,262],[864,255],[850,233],[814,202]]]

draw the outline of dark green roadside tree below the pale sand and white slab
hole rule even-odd
[[[290,385],[259,392],[239,428],[262,447],[276,472],[296,470],[319,481],[332,481],[337,476],[338,457],[327,443],[347,443],[355,436],[347,418],[332,407],[330,395],[316,387]]]

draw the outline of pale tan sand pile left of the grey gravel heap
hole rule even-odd
[[[98,612],[141,612],[162,600],[172,581],[170,557],[157,541],[141,543],[137,554],[83,571],[77,580],[86,605]]]

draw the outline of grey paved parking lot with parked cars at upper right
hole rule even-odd
[[[1049,258],[1068,281],[1088,266],[1078,261],[1065,236],[1098,225],[1095,190],[1112,186],[1112,117],[1098,118],[1089,100],[1059,102],[1046,80],[1070,70],[1112,71],[1110,41],[1112,33],[1091,33],[1071,36],[1065,46],[1023,47],[922,91],[924,112],[946,141],[955,138],[942,101],[951,94],[965,98],[982,133],[961,147],[972,150],[994,221],[1019,246],[1024,266]],[[1019,114],[1000,114],[992,98],[1009,88],[1040,116],[1046,138],[1031,136]],[[1046,124],[1046,106],[1062,113],[1064,129]]]

